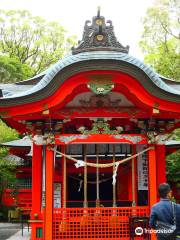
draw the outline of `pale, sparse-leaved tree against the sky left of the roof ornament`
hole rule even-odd
[[[67,54],[74,36],[58,22],[47,22],[26,10],[0,10],[0,52],[39,73]]]

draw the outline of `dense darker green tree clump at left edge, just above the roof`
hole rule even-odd
[[[0,56],[0,82],[14,83],[33,75],[33,70],[17,58]]]

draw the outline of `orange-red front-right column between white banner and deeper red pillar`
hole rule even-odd
[[[149,205],[150,207],[157,202],[157,170],[156,170],[156,150],[151,145],[149,150]]]

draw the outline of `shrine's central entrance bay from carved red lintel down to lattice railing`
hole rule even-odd
[[[53,239],[128,239],[129,218],[149,214],[149,206],[137,205],[138,157],[153,150],[143,147],[146,138],[64,134],[56,139],[60,150],[47,149],[61,155],[63,173],[62,208],[53,210]],[[135,143],[142,144],[138,153]]]

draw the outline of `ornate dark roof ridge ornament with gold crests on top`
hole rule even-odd
[[[100,15],[100,8],[98,8],[97,16],[87,20],[84,26],[82,40],[79,45],[72,48],[72,54],[89,51],[117,51],[128,53],[129,46],[124,47],[117,41],[114,34],[114,27],[112,21],[105,22],[105,18]]]

